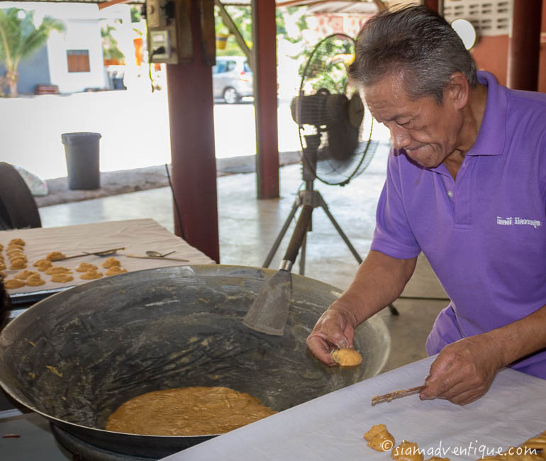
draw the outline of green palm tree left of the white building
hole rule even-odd
[[[11,97],[17,96],[18,65],[45,45],[52,30],[63,32],[65,25],[45,16],[38,28],[34,11],[18,8],[0,9],[0,62],[6,66],[4,82]]]

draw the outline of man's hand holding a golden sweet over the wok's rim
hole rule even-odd
[[[335,306],[334,303],[323,313],[306,340],[311,353],[318,360],[330,366],[335,365],[330,357],[331,350],[352,348],[356,328],[355,316],[345,309],[338,309]]]

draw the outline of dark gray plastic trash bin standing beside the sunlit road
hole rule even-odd
[[[69,189],[99,189],[99,133],[64,133],[61,135],[67,157]]]

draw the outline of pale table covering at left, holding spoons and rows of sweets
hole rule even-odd
[[[128,272],[143,269],[153,269],[156,267],[169,267],[179,265],[200,265],[215,264],[211,258],[203,252],[186,243],[182,238],[169,232],[163,226],[153,219],[131,219],[128,221],[108,221],[104,223],[82,224],[79,226],[65,226],[58,228],[34,228],[0,231],[0,243],[4,245],[2,254],[6,266],[9,268],[9,257],[6,255],[6,245],[13,238],[22,238],[26,245],[24,252],[28,258],[27,270],[38,271],[33,267],[37,260],[45,258],[50,252],[57,250],[67,256],[78,255],[82,252],[96,252],[98,250],[108,250],[109,248],[125,247],[116,255],[111,255],[120,260],[121,267]],[[143,260],[124,255],[145,255],[146,250],[159,251],[162,254],[176,250],[169,257],[189,260],[188,262],[179,262],[172,260]],[[89,280],[81,279],[80,272],[74,269],[81,262],[89,262],[99,267],[106,277],[106,270],[101,267],[101,263],[106,257],[84,256],[72,260],[53,261],[55,266],[64,266],[72,269],[74,280],[66,284],[50,282],[50,275],[40,272],[42,279],[46,282],[40,287],[21,287],[9,290],[9,294],[28,293],[32,291],[41,291],[47,289],[57,289],[79,285]],[[7,279],[13,278],[20,270],[6,270]],[[115,276],[114,276],[115,277]]]

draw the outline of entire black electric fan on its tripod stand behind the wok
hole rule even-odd
[[[304,209],[308,207],[311,211],[321,206],[357,262],[362,262],[321,194],[313,189],[315,179],[325,184],[345,186],[364,171],[377,149],[377,141],[371,140],[373,118],[365,111],[357,89],[351,87],[347,78],[347,67],[354,59],[355,40],[349,35],[337,33],[321,40],[300,67],[299,94],[292,99],[290,109],[292,118],[298,124],[305,189],[297,192],[291,212],[263,267],[271,264],[300,206]],[[304,230],[301,226],[304,226]],[[302,212],[294,235],[303,235],[303,239],[289,244],[292,248],[294,245],[298,249],[301,246],[300,274],[305,273],[308,230],[311,230],[311,213]],[[293,262],[289,262],[288,267],[291,268]],[[287,267],[286,256],[282,267]]]

